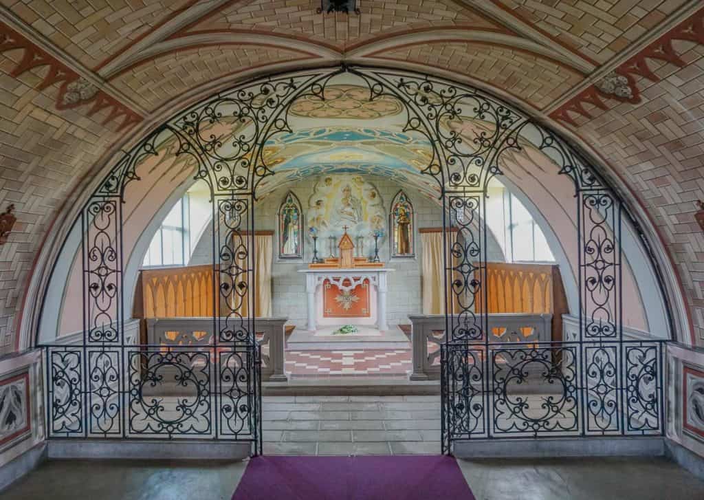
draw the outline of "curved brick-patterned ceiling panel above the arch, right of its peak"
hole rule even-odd
[[[456,70],[510,92],[539,109],[551,104],[555,95],[564,94],[582,80],[579,73],[546,58],[484,44],[419,44],[391,49],[376,56]]]

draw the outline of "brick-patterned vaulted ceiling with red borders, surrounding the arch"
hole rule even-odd
[[[657,228],[704,343],[699,0],[358,4],[360,15],[317,13],[315,0],[2,0],[0,203],[19,220],[0,247],[2,350],[20,345],[40,252],[119,149],[239,80],[342,61],[468,82],[584,146]]]

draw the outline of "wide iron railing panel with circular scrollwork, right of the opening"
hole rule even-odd
[[[492,435],[579,432],[577,346],[506,346],[490,352]],[[530,385],[543,390],[529,394]]]

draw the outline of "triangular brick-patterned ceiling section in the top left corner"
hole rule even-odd
[[[87,67],[125,49],[186,0],[2,0],[56,47]]]

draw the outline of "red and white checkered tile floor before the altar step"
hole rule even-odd
[[[291,375],[406,375],[410,349],[286,351],[285,369]]]

